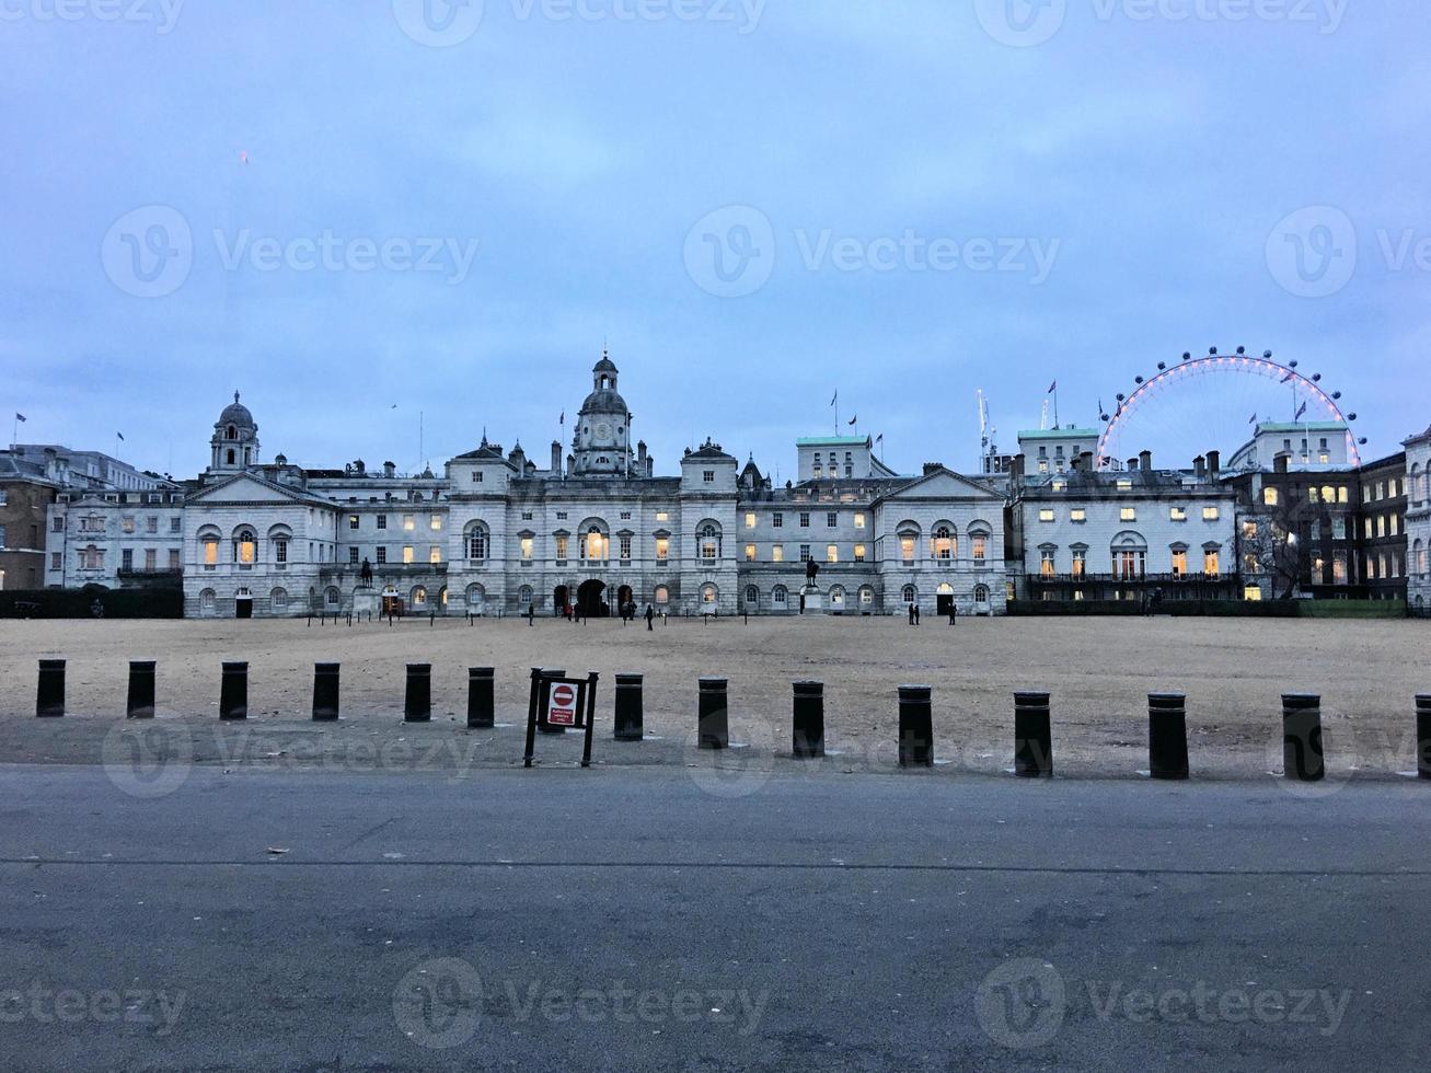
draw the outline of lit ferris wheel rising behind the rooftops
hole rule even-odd
[[[1321,373],[1307,376],[1296,362],[1278,362],[1271,351],[1261,358],[1239,346],[1221,355],[1183,353],[1181,362],[1158,362],[1153,376],[1136,376],[1135,388],[1118,393],[1100,413],[1103,432],[1098,441],[1098,465],[1113,468],[1123,454],[1153,451],[1169,466],[1186,466],[1211,449],[1232,458],[1264,423],[1322,426],[1329,435],[1344,435],[1347,458],[1361,465],[1358,439],[1351,432],[1355,413],[1344,413],[1341,392],[1321,386]],[[1329,429],[1332,423],[1339,428]]]

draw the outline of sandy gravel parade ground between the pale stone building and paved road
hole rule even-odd
[[[1012,765],[1012,694],[1053,694],[1060,774],[1135,777],[1148,767],[1146,694],[1188,694],[1192,765],[1202,777],[1281,768],[1279,694],[1321,692],[1331,781],[1400,778],[1415,767],[1414,697],[1431,692],[1431,622],[1301,619],[960,619],[926,617],[695,619],[571,625],[538,619],[312,627],[299,621],[0,622],[0,763],[113,761],[122,737],[182,735],[195,763],[481,768],[521,763],[529,668],[597,671],[598,764],[790,764],[791,682],[826,684],[824,765],[896,765],[900,684],[934,691],[940,767]],[[34,718],[36,660],[69,661],[63,720]],[[159,661],[160,718],[123,717],[127,661]],[[218,721],[219,664],[249,661],[250,718]],[[342,664],[339,724],[312,724],[312,665]],[[432,664],[434,721],[402,722],[404,665]],[[495,731],[465,727],[467,667],[497,668]],[[615,672],[645,675],[653,740],[611,740]],[[697,678],[730,680],[731,738],[693,748]],[[119,727],[119,730],[116,730]],[[150,743],[150,747],[152,743]],[[578,755],[574,735],[538,743],[542,763]]]

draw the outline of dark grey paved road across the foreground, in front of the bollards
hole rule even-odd
[[[6,1070],[1431,1053],[1415,783],[3,767],[0,803]]]

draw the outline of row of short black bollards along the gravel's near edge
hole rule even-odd
[[[64,715],[64,660],[40,660],[36,691],[36,715]],[[219,718],[245,720],[249,714],[249,665],[225,661],[219,687]],[[313,720],[339,717],[339,664],[313,664]],[[561,670],[542,671],[562,677]],[[794,682],[791,710],[791,754],[817,758],[824,751],[824,684]],[[618,674],[615,688],[614,737],[641,741],[643,677]],[[929,685],[899,687],[899,764],[932,767],[934,763],[933,690]],[[1188,764],[1188,710],[1181,692],[1148,694],[1148,758],[1153,778],[1183,780]],[[1417,774],[1431,780],[1431,694],[1418,694],[1417,704]],[[129,664],[129,718],[155,715],[155,661],[132,660]],[[432,720],[432,664],[408,664],[402,717],[406,722]],[[467,725],[497,725],[495,671],[491,667],[468,668]],[[560,731],[561,728],[552,728]],[[1053,727],[1047,692],[1019,691],[1013,695],[1013,771],[1026,778],[1053,774]],[[703,750],[730,747],[730,704],[726,678],[701,678],[697,707],[697,744]],[[1321,695],[1282,694],[1282,761],[1286,778],[1315,783],[1325,778],[1322,753]]]

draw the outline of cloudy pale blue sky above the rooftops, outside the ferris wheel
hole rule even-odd
[[[235,388],[266,456],[419,468],[422,412],[434,466],[545,459],[605,339],[663,472],[713,435],[788,476],[836,389],[892,465],[973,468],[979,388],[1010,448],[1053,379],[1095,422],[1246,345],[1388,454],[1431,421],[1428,20],[3,0],[0,408],[176,475]]]

